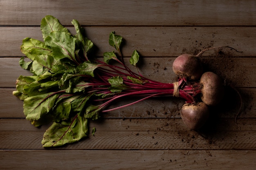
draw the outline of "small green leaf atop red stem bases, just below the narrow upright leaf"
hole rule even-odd
[[[90,75],[94,77],[94,70],[98,68],[99,65],[91,62],[83,62],[79,66],[77,66],[76,71],[79,74]]]

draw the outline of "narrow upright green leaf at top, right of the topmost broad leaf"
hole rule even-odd
[[[79,44],[81,46],[81,49],[83,50],[84,56],[87,56],[87,53],[92,49],[93,43],[91,40],[85,37],[85,30],[77,20],[72,20],[72,24],[74,25],[76,29],[76,35],[75,38],[81,43]]]

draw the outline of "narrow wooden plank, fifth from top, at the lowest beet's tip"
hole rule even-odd
[[[0,131],[37,131],[45,132],[51,125],[43,125],[40,128],[31,125],[26,119],[0,119]],[[111,131],[189,131],[180,118],[104,118],[90,121],[89,129],[95,127],[97,132]],[[205,131],[255,131],[256,118],[238,119],[221,118],[207,124],[200,130]],[[97,132],[95,134],[97,134]]]

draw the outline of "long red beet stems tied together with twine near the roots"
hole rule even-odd
[[[150,97],[155,96],[173,96],[174,92],[174,84],[173,83],[162,83],[153,81],[151,79],[145,78],[140,74],[133,73],[127,66],[125,66],[121,61],[117,59],[117,62],[122,64],[123,67],[120,66],[113,66],[110,64],[106,64],[97,60],[99,63],[97,71],[94,72],[95,77],[85,77],[86,82],[85,84],[85,93],[97,93],[97,94],[112,94],[110,97],[103,98],[103,99],[95,99],[94,102],[105,101],[103,104],[99,105],[99,108],[104,108],[111,104],[113,101],[120,99],[122,97],[143,97],[142,99],[138,99],[135,102],[130,104],[126,104],[124,106],[119,106],[116,108],[111,108],[108,110],[102,110],[102,112],[108,112],[112,110],[116,110],[118,108],[123,108],[126,106],[130,106],[137,102],[143,101]],[[112,77],[120,76],[123,79],[123,84],[126,86],[124,90],[119,93],[112,93],[110,91],[111,84],[108,82],[108,79]],[[132,80],[128,79],[127,77],[133,77],[141,81],[141,84],[137,84]],[[83,77],[83,75],[81,75]],[[193,103],[195,102],[194,96],[201,93],[200,84],[198,82],[193,82],[193,84],[187,84],[186,79],[181,78],[178,79],[178,91],[179,97],[185,99],[185,102]],[[88,86],[90,85],[90,86]],[[83,86],[83,85],[81,85]]]

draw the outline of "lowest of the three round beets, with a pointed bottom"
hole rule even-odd
[[[201,128],[209,117],[208,106],[203,102],[186,103],[181,109],[181,118],[184,124],[193,130]]]

